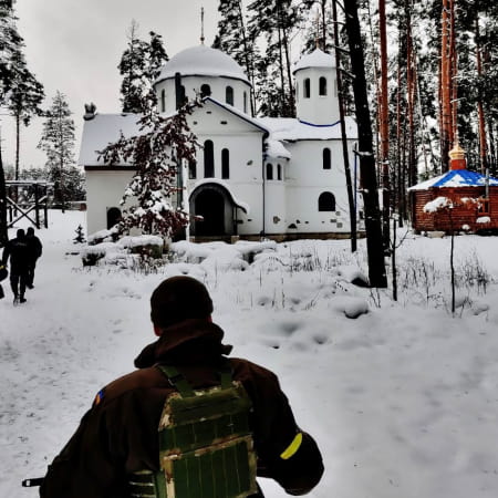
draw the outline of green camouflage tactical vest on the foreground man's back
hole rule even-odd
[[[158,365],[177,390],[160,415],[157,473],[131,476],[131,496],[141,498],[243,498],[257,491],[251,401],[230,371],[220,385],[193,390],[173,366]]]

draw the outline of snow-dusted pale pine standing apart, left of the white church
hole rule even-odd
[[[65,95],[58,91],[46,112],[38,145],[46,154],[46,166],[51,180],[55,184],[55,201],[61,204],[62,212],[68,199],[69,168],[74,165],[74,121],[71,115]]]

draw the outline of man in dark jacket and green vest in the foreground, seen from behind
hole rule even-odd
[[[155,289],[158,339],[136,357],[137,370],[97,393],[49,466],[41,498],[262,497],[256,474],[304,495],[320,481],[320,450],[277,375],[229,359],[211,313],[206,287],[190,277]],[[212,408],[221,403],[222,413]]]

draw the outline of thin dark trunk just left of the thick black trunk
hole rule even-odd
[[[322,3],[323,6],[323,3]],[[323,7],[324,8],[324,7]],[[332,0],[332,15],[334,22],[334,45],[335,49],[335,68],[338,79],[338,97],[339,97],[339,116],[341,120],[341,138],[342,138],[342,155],[344,160],[344,174],[346,177],[347,201],[350,208],[350,227],[351,227],[351,252],[357,249],[356,243],[356,206],[354,203],[353,183],[351,180],[350,153],[347,149],[347,135],[344,122],[344,94],[341,74],[341,56],[339,52],[339,28],[338,28],[338,6],[336,0]],[[356,186],[354,186],[356,188]]]

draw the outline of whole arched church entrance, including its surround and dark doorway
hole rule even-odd
[[[230,193],[221,185],[203,184],[190,195],[190,214],[203,217],[191,224],[196,237],[221,237],[235,235],[236,206]]]

